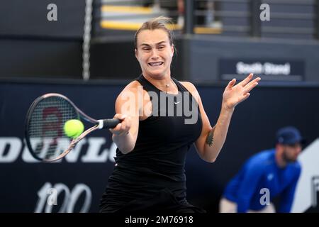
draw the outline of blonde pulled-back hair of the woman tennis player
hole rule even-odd
[[[150,19],[150,21],[146,21],[142,24],[142,26],[140,26],[140,28],[138,28],[138,31],[136,31],[135,33],[135,48],[138,48],[138,34],[141,31],[144,30],[155,30],[155,29],[162,29],[163,31],[165,31],[167,33],[167,36],[169,38],[169,44],[173,45],[173,32],[171,30],[169,30],[169,28],[167,28],[167,26],[165,24],[169,23],[170,25],[172,25],[173,20],[172,18],[166,17],[166,16],[159,16],[157,18],[152,18]]]

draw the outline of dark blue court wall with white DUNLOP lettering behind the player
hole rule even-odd
[[[50,195],[45,189],[57,186],[62,192],[52,211],[63,209],[66,197],[70,200],[65,202],[65,211],[80,211],[85,199],[89,203],[87,211],[99,211],[99,199],[114,165],[111,133],[94,132],[84,140],[79,156],[70,153],[60,163],[43,164],[30,158],[23,143],[24,121],[32,101],[49,92],[68,96],[89,116],[111,118],[116,96],[124,86],[123,82],[0,82],[0,212],[45,211],[46,198]],[[198,84],[197,87],[211,124],[216,123],[224,86]],[[189,201],[216,212],[218,199],[230,177],[247,157],[271,148],[274,133],[281,126],[298,127],[308,143],[318,138],[318,97],[319,87],[261,84],[254,89],[250,98],[237,106],[216,162],[204,162],[194,148],[189,151],[186,162]],[[69,196],[65,196],[67,190]]]

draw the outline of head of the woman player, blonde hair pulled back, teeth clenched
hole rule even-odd
[[[144,75],[159,79],[170,75],[174,43],[167,23],[172,20],[164,16],[153,18],[135,33],[135,57]]]

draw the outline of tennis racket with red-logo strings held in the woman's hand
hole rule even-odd
[[[65,122],[77,119],[93,123],[77,138],[65,135]],[[35,159],[55,162],[65,157],[89,133],[102,128],[114,128],[121,120],[96,120],[84,114],[66,96],[49,93],[38,97],[31,104],[26,116],[26,144]]]

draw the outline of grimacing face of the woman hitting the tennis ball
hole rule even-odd
[[[170,75],[173,55],[174,46],[164,30],[143,30],[138,34],[135,57],[144,75],[155,78]]]

